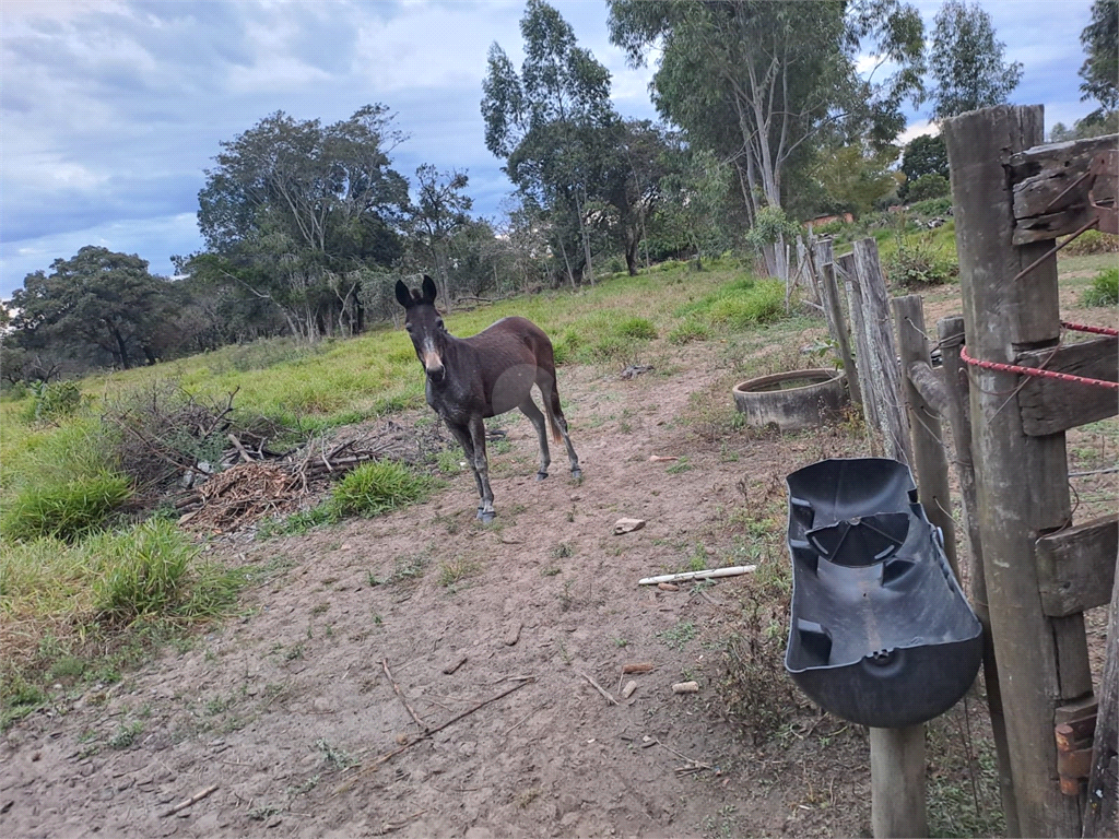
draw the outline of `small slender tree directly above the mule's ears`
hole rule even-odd
[[[448,311],[451,308],[448,239],[470,220],[467,214],[473,201],[462,194],[469,182],[466,172],[453,169],[440,172],[424,163],[416,169],[416,200],[408,206],[412,234],[432,261]]]

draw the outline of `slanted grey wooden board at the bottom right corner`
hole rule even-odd
[[[1112,568],[1112,575],[1100,708],[1096,715],[1092,767],[1088,774],[1085,837],[1119,836],[1119,571]]]

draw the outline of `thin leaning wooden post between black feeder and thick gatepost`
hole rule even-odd
[[[1003,689],[998,685],[998,663],[995,659],[995,639],[990,630],[990,609],[987,605],[987,581],[982,567],[982,538],[979,531],[979,502],[976,499],[976,473],[971,461],[971,405],[968,371],[960,359],[963,346],[963,318],[956,314],[937,322],[940,337],[940,358],[948,392],[948,417],[952,427],[956,450],[956,474],[963,499],[963,524],[968,531],[968,576],[971,581],[971,607],[982,624],[982,671],[987,687],[987,709],[990,714],[995,751],[998,753],[998,785],[1003,794],[1003,813],[1006,816],[1006,835],[1022,836],[1018,828],[1018,805],[1014,798],[1014,775],[1010,772],[1010,751],[1006,741],[1006,717],[1003,715]]]

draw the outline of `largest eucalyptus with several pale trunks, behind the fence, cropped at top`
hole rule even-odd
[[[611,41],[632,65],[659,53],[653,102],[689,142],[734,167],[750,223],[781,208],[788,172],[811,162],[825,128],[892,140],[919,96],[920,13],[897,0],[608,0]],[[866,49],[882,82],[857,70]],[[784,276],[783,243],[767,247]]]

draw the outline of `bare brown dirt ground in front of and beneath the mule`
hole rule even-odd
[[[507,415],[508,445],[491,453],[491,527],[474,522],[463,471],[391,515],[216,539],[209,555],[260,568],[241,612],[12,728],[0,745],[0,831],[869,836],[865,729],[807,704],[771,730],[727,713],[727,639],[750,625],[756,581],[637,584],[697,555],[787,563],[783,543],[750,524],[783,522],[788,472],[865,453],[841,424],[783,437],[708,427],[704,406],[725,420],[731,404],[733,359],[716,355],[666,348],[632,380],[562,369],[584,479],[554,452],[536,482],[535,434]],[[614,535],[622,517],[647,524]],[[622,678],[637,662],[655,667]],[[637,689],[622,698],[629,680]],[[680,681],[699,689],[676,694]],[[969,703],[968,736],[982,741],[981,700]],[[942,720],[930,726],[930,783],[967,785],[938,745],[963,737],[963,713]],[[441,729],[421,737],[425,727]]]

